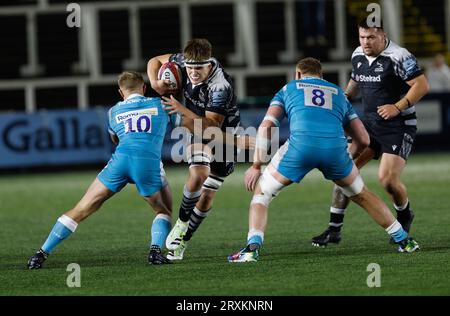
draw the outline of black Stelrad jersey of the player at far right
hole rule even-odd
[[[367,119],[383,120],[377,107],[398,102],[410,88],[406,81],[422,74],[414,55],[390,40],[377,57],[366,56],[361,46],[352,55],[351,78],[358,83]],[[415,107],[405,109],[391,121],[417,125]]]

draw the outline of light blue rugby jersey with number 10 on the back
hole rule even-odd
[[[168,115],[160,98],[138,94],[117,103],[108,112],[109,132],[119,137],[116,152],[161,159]]]

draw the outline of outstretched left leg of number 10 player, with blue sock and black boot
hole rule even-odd
[[[39,269],[53,249],[69,237],[78,224],[97,211],[103,202],[114,195],[98,178],[89,186],[87,192],[78,204],[58,218],[46,241],[34,256],[28,261],[29,269]]]

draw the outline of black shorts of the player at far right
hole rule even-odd
[[[416,138],[416,126],[405,125],[403,121],[367,120],[363,123],[370,136],[369,147],[375,151],[374,159],[387,153],[408,160]]]

